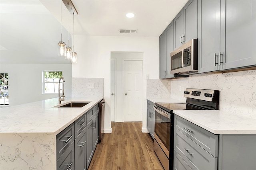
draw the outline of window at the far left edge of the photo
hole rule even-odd
[[[8,74],[0,73],[0,106],[9,105]]]

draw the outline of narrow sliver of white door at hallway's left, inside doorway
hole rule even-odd
[[[111,121],[115,121],[115,60],[111,60],[111,106],[110,106],[110,115]]]

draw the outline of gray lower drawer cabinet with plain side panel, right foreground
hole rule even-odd
[[[213,134],[175,115],[175,170],[255,170],[255,134]]]

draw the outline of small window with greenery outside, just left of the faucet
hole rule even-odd
[[[58,93],[59,80],[62,71],[43,71],[43,94]],[[62,82],[60,83],[62,87]]]

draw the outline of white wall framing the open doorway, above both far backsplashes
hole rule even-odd
[[[112,51],[144,52],[143,118],[146,129],[146,74],[159,78],[159,37],[75,36],[78,61],[72,64],[72,77],[104,78],[105,127],[111,133],[110,115],[110,58]],[[147,131],[147,130],[146,130]]]

